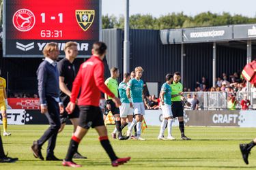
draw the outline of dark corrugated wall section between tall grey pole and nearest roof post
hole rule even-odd
[[[165,75],[180,71],[180,45],[162,45],[159,31],[130,31],[130,70],[141,66],[145,82],[165,82]]]

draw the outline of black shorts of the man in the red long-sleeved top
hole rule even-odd
[[[80,105],[79,126],[89,129],[96,126],[104,126],[103,115],[100,107],[92,105]]]

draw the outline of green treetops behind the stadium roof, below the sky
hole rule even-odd
[[[216,14],[212,12],[203,12],[196,16],[187,16],[180,13],[171,13],[156,18],[151,14],[134,14],[130,16],[131,29],[180,29],[188,27],[210,27],[229,24],[251,24],[255,23],[256,18],[248,18],[242,15],[232,16],[228,12]],[[103,29],[124,29],[124,16],[103,16]]]

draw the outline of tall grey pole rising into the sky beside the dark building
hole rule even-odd
[[[129,0],[126,0],[124,15],[124,73],[130,72]]]

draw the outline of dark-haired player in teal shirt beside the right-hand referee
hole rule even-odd
[[[173,114],[171,112],[171,82],[173,82],[173,75],[168,73],[165,76],[166,82],[162,84],[161,92],[160,92],[160,100],[161,100],[161,109],[162,109],[162,124],[160,126],[160,133],[158,136],[159,140],[165,140],[164,133],[165,127],[168,129],[168,137],[169,140],[174,140],[175,138],[171,135],[171,125],[173,123]]]

